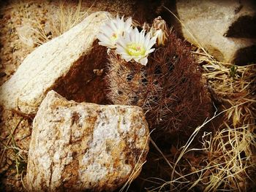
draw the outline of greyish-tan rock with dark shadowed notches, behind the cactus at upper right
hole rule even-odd
[[[252,1],[181,0],[176,3],[185,39],[203,46],[219,61],[239,65],[256,60],[256,39],[246,38],[256,34],[256,31],[246,33],[246,28],[255,30],[255,10]]]

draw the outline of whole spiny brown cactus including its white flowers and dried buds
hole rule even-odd
[[[98,35],[99,45],[108,47],[108,99],[142,107],[149,127],[156,130],[154,139],[170,139],[176,131],[189,136],[211,113],[191,46],[161,17],[151,27],[144,23],[143,31],[131,23],[131,18],[117,16]]]

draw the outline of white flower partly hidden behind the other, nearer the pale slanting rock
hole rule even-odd
[[[109,23],[105,23],[100,28],[100,32],[97,36],[99,39],[99,45],[103,45],[109,48],[116,47],[116,40],[123,36],[125,32],[128,32],[132,27],[132,18],[128,18],[124,21],[124,16],[119,18],[116,15],[116,19],[110,20]]]

